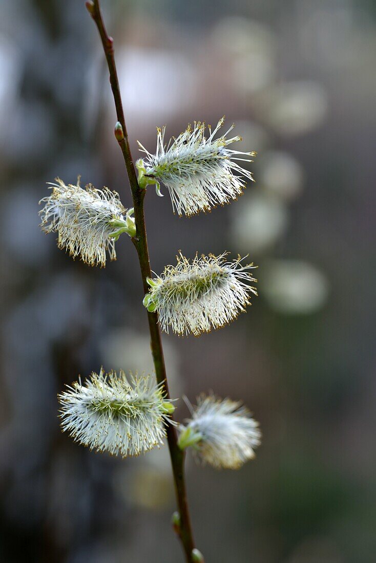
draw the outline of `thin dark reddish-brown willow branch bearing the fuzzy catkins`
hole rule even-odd
[[[144,216],[144,198],[145,190],[140,189],[137,181],[136,171],[132,160],[132,154],[129,146],[127,128],[125,123],[124,111],[120,95],[120,87],[118,82],[116,64],[114,60],[113,39],[109,37],[105,29],[103,17],[100,10],[99,0],[86,2],[86,8],[94,20],[103,45],[104,54],[107,60],[110,84],[112,88],[113,98],[116,107],[118,122],[122,127],[122,134],[117,136],[118,143],[122,150],[127,175],[129,177],[133,205],[135,210],[136,236],[132,239],[136,247],[141,275],[143,280],[144,293],[148,292],[147,277],[151,277],[151,268],[149,260],[148,241],[145,227]],[[166,393],[166,399],[169,400],[169,388],[166,378],[165,359],[163,357],[161,332],[158,326],[158,315],[156,312],[148,312],[149,331],[151,336],[151,350],[153,355],[154,369],[156,370],[157,382],[163,385]],[[184,480],[184,452],[178,446],[178,439],[174,426],[167,426],[167,443],[169,445],[172,473],[174,475],[175,493],[179,507],[180,523],[178,535],[182,542],[187,563],[193,563],[194,558],[192,550],[194,549],[191,519],[189,517],[187,492]]]

